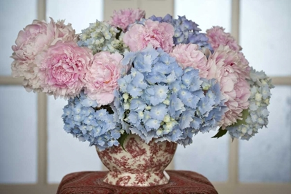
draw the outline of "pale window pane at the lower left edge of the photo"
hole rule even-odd
[[[0,183],[37,182],[37,96],[0,86]]]

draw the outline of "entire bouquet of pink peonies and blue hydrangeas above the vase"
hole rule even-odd
[[[192,143],[216,130],[249,140],[267,125],[270,89],[236,40],[185,16],[145,19],[119,10],[76,34],[64,21],[33,21],[12,46],[12,76],[27,91],[66,98],[64,130],[99,150],[137,134]]]

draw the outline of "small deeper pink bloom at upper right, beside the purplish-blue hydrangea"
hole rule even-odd
[[[213,28],[206,30],[206,36],[209,38],[209,43],[214,50],[220,45],[229,46],[233,51],[241,50],[236,39],[234,39],[230,33],[225,33],[224,28],[220,26],[213,26]]]

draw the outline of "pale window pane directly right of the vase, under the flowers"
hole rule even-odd
[[[227,182],[229,136],[213,139],[216,132],[197,134],[193,143],[184,148],[178,145],[175,170],[191,170],[207,177],[211,182]]]

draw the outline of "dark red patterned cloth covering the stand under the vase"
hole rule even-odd
[[[185,170],[167,170],[170,182],[160,186],[123,187],[103,183],[107,171],[79,172],[66,175],[57,194],[73,193],[218,193],[206,177]]]

